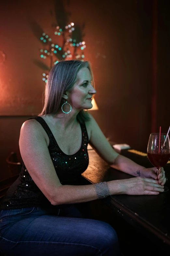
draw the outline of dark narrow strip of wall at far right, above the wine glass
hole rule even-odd
[[[170,1],[158,2],[156,128],[170,126]]]

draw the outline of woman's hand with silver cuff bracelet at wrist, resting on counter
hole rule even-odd
[[[127,195],[158,195],[163,192],[163,186],[158,180],[149,178],[131,178],[119,180],[122,194]]]

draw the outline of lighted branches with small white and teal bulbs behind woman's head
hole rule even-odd
[[[44,44],[43,49],[40,49],[40,57],[42,59],[50,58],[50,69],[53,65],[60,60],[82,60],[84,59],[84,49],[86,44],[84,41],[77,42],[73,39],[72,32],[75,30],[74,23],[71,22],[64,29],[56,26],[54,29],[54,35],[57,37],[63,37],[63,44],[59,45],[52,42],[52,39],[45,32],[42,33],[40,40]],[[55,60],[54,60],[55,59]],[[46,83],[48,78],[48,72],[42,73],[42,80]]]

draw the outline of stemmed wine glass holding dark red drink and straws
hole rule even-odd
[[[151,133],[149,137],[147,155],[151,164],[157,168],[157,175],[159,175],[160,168],[163,167],[170,158],[169,136],[167,136],[165,142],[166,135],[166,133]],[[164,186],[164,192],[168,190],[169,188]]]

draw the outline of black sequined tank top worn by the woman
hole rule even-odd
[[[85,123],[81,123],[82,142],[81,147],[73,155],[66,155],[57,144],[49,126],[40,116],[33,118],[37,120],[47,132],[50,144],[48,146],[51,160],[60,182],[63,185],[78,185],[78,179],[89,164],[87,145],[89,142]],[[21,158],[22,168],[19,178],[12,184],[7,191],[6,196],[1,204],[1,209],[17,209],[24,207],[51,207],[50,201],[44,196],[37,187],[34,180]]]

